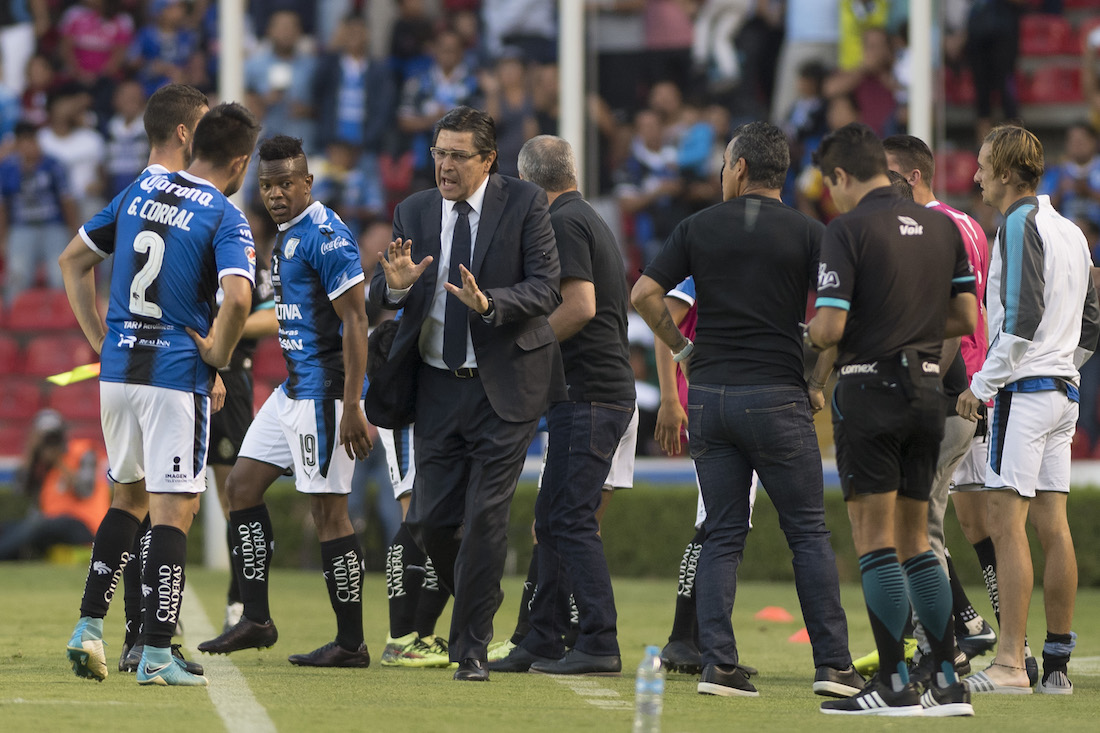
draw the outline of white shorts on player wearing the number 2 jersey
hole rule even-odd
[[[153,493],[206,491],[210,397],[147,384],[100,382],[100,420],[117,483]]]

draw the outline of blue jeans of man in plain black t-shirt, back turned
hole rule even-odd
[[[703,664],[737,664],[729,615],[749,530],[749,482],[755,469],[794,555],[794,584],[814,666],[847,668],[848,622],[825,528],[821,455],[805,390],[693,383],[688,423],[706,505],[706,538],[695,579]]]

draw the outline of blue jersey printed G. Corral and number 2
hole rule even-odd
[[[114,255],[100,380],[209,394],[215,370],[184,329],[209,332],[222,277],[255,282],[244,214],[209,180],[151,166],[80,237]]]

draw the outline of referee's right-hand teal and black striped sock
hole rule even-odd
[[[932,647],[932,658],[943,679],[934,679],[938,687],[954,685],[955,630],[952,622],[952,588],[947,573],[932,550],[915,555],[902,565],[909,600],[924,626]]]

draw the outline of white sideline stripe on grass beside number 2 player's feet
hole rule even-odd
[[[202,608],[190,595],[184,595],[184,609],[180,615],[189,638],[213,638],[217,635]],[[191,656],[201,663],[210,680],[207,693],[227,731],[275,733],[275,723],[252,694],[244,675],[227,655],[204,654],[200,657],[198,649],[190,644],[186,646]]]

